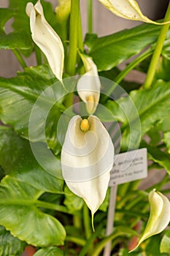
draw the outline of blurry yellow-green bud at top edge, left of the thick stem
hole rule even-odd
[[[71,10],[71,0],[58,0],[58,6],[55,8],[56,18],[59,23],[69,18]]]

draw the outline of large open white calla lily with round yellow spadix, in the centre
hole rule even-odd
[[[92,217],[107,193],[114,146],[96,116],[74,116],[61,151],[63,178],[74,194],[85,200]]]

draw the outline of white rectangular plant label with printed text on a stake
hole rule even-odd
[[[109,187],[147,177],[147,148],[115,155]]]

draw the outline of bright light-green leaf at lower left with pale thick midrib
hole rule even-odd
[[[66,233],[57,219],[39,211],[42,191],[6,176],[0,185],[0,225],[34,246],[63,244]]]

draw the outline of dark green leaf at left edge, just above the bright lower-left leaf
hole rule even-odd
[[[56,177],[61,166],[49,162],[48,169],[44,170],[36,161],[28,140],[20,138],[9,127],[0,126],[0,165],[6,173],[10,172],[11,176],[37,189],[54,193],[63,191],[63,180]],[[50,175],[52,172],[56,175]]]

